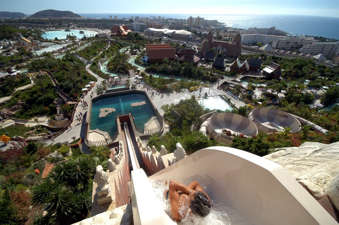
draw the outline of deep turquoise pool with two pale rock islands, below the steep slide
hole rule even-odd
[[[146,105],[131,107],[131,103],[145,101]],[[114,108],[116,111],[105,117],[99,117],[101,108]],[[135,124],[138,128],[144,129],[145,123],[155,116],[147,98],[143,94],[120,94],[118,96],[103,96],[95,99],[92,103],[91,130],[99,129],[109,133],[111,137],[117,132],[116,112],[131,110]]]

